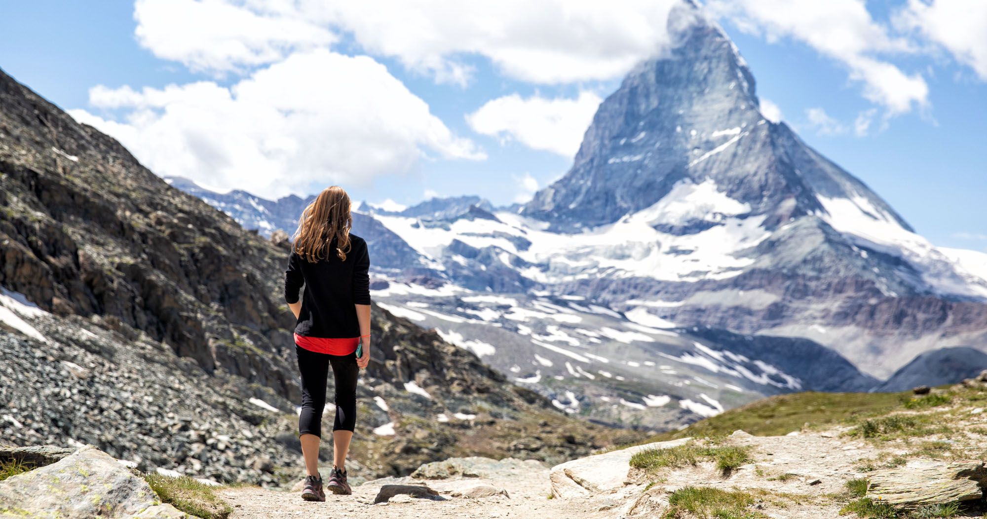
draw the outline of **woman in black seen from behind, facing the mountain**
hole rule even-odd
[[[302,498],[307,501],[326,500],[319,442],[329,366],[336,379],[336,421],[333,472],[326,487],[350,493],[346,451],[356,422],[356,376],[370,361],[370,259],[366,242],[349,234],[351,226],[349,195],[339,185],[327,187],[302,211],[284,272],[284,300],[297,320],[295,353],[302,375],[298,433],[308,475]]]

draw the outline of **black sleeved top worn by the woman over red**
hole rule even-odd
[[[284,300],[298,302],[298,291],[305,285],[302,311],[295,334],[311,337],[349,338],[359,336],[360,327],[353,305],[370,304],[370,257],[367,243],[349,235],[346,260],[336,256],[336,239],[329,245],[329,258],[311,263],[294,251],[284,271]]]

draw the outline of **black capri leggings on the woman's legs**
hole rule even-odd
[[[356,425],[356,376],[360,368],[356,355],[328,355],[309,351],[295,344],[298,371],[302,374],[302,412],[298,415],[298,435],[322,437],[322,409],[326,407],[329,365],[336,379],[336,422],[333,430],[352,431]]]

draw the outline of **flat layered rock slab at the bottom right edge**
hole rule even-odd
[[[981,461],[909,462],[904,467],[874,471],[868,496],[904,508],[979,499],[987,483]]]

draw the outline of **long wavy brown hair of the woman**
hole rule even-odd
[[[292,247],[298,256],[314,263],[329,258],[329,246],[336,238],[336,256],[345,261],[352,226],[349,195],[339,185],[326,187],[298,218]]]

